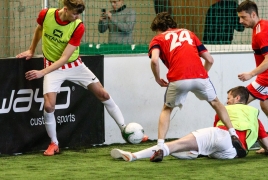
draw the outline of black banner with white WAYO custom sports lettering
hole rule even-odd
[[[103,83],[103,56],[82,56]],[[50,143],[43,118],[43,78],[28,81],[25,72],[43,68],[42,58],[0,59],[0,153],[45,150]],[[55,118],[60,147],[104,142],[103,104],[88,90],[65,81],[57,95]]]

